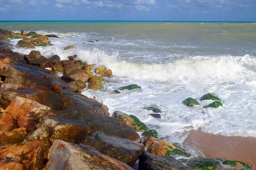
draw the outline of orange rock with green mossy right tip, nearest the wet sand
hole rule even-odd
[[[177,147],[175,144],[172,144],[166,140],[156,139],[152,136],[149,136],[148,139],[144,142],[146,151],[154,155],[159,156],[172,156],[172,155],[182,155],[189,156],[185,150],[180,147]]]

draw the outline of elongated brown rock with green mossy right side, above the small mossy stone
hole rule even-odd
[[[134,115],[129,116],[128,114],[115,111],[113,116],[120,119],[125,124],[130,125],[136,131],[145,132],[148,130],[148,127],[143,122],[140,122],[140,120]]]

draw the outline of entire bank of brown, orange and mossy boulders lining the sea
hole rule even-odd
[[[58,38],[0,29],[0,170],[129,170],[138,160],[139,170],[250,169],[239,161],[195,158],[158,139],[157,131],[136,116],[116,111],[111,117],[107,106],[80,94],[84,88],[103,89],[108,82],[104,77],[113,75],[110,69],[95,69],[76,55],[62,61],[57,55],[47,59],[40,51],[23,55],[9,44],[10,38],[18,38],[16,48],[52,45],[48,37]],[[75,47],[65,50],[70,48]],[[141,87],[118,90],[136,88]],[[184,104],[195,105],[191,102]]]

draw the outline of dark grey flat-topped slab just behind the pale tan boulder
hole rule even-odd
[[[87,137],[82,144],[91,146],[107,156],[128,164],[130,167],[134,165],[144,151],[144,146],[140,143],[100,133]]]

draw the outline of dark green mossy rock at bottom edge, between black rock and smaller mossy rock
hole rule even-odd
[[[187,166],[191,170],[216,170],[220,164],[219,159],[189,160]]]

